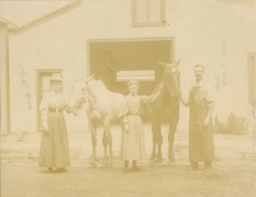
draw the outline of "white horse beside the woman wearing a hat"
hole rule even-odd
[[[110,134],[110,123],[112,120],[121,120],[127,112],[125,96],[110,92],[101,80],[95,80],[93,75],[84,80],[74,81],[69,108],[77,113],[85,106],[88,116],[88,127],[92,133],[92,159],[96,160],[96,129],[99,121],[102,122],[104,157],[112,157],[112,137]],[[123,126],[123,121],[119,125]]]

